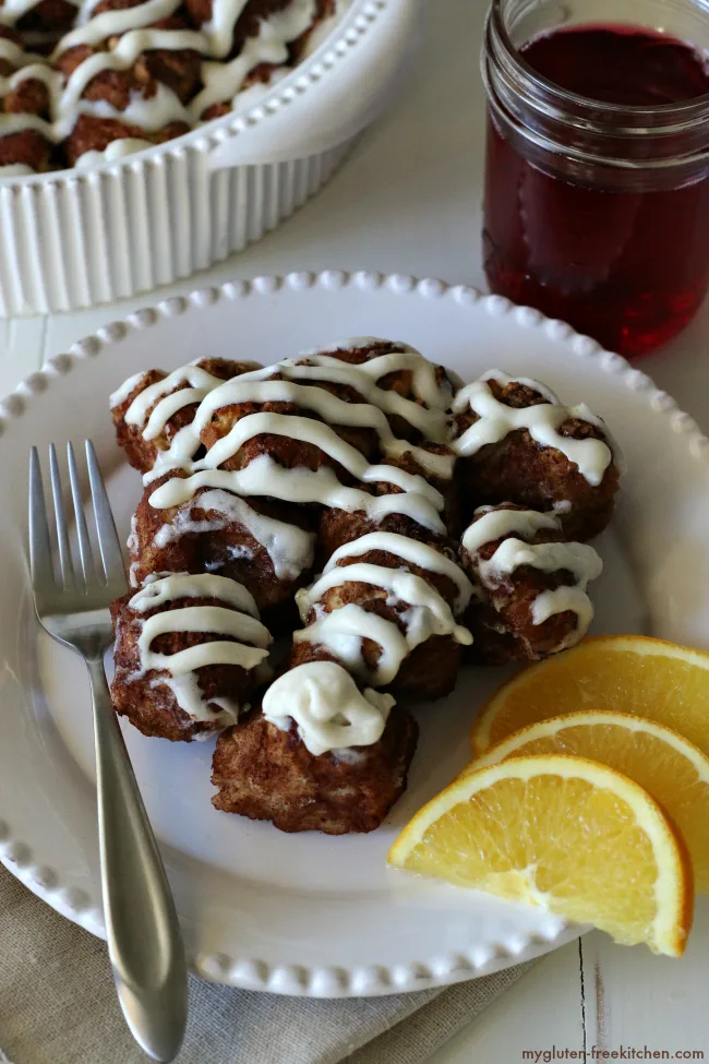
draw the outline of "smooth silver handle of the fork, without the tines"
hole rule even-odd
[[[187,1024],[187,963],[175,902],[111,703],[104,662],[87,661],[94,708],[98,840],[108,954],[141,1048],[171,1061]]]

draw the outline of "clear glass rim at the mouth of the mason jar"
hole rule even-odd
[[[681,100],[676,104],[611,104],[606,100],[594,99],[592,96],[582,96],[579,93],[563,88],[556,82],[551,81],[534,70],[527,62],[519,48],[513,43],[507,26],[505,25],[503,14],[504,3],[505,0],[492,0],[488,15],[489,29],[492,29],[496,35],[507,58],[517,67],[517,72],[521,72],[525,80],[546,97],[548,106],[551,105],[553,108],[558,109],[560,112],[567,111],[569,106],[579,112],[592,109],[596,115],[605,117],[611,124],[614,119],[623,119],[622,124],[624,127],[628,125],[628,118],[637,119],[637,122],[632,122],[630,125],[650,127],[654,129],[661,127],[666,129],[673,127],[675,129],[682,129],[692,124],[694,121],[709,118],[709,93],[704,93],[701,96],[694,96],[690,99]],[[707,19],[709,21],[709,10],[707,11]],[[660,121],[651,121],[652,117],[660,119]]]

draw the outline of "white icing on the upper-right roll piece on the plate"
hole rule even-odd
[[[498,443],[510,432],[527,429],[536,443],[561,451],[569,462],[578,466],[579,473],[591,486],[598,487],[601,483],[605,470],[613,461],[611,447],[602,440],[574,440],[561,435],[558,431],[568,418],[577,418],[600,426],[605,432],[602,422],[598,419],[591,420],[592,416],[589,417],[590,411],[586,406],[561,406],[553,393],[544,385],[526,380],[524,383],[541,392],[548,402],[516,409],[505,406],[495,398],[488,383],[491,380],[506,384],[510,378],[500,370],[491,370],[472,384],[461,388],[454,399],[455,414],[469,409],[479,418],[458,440],[453,442],[452,446],[459,455],[477,454],[481,447],[490,443]],[[552,402],[552,397],[555,402]]]

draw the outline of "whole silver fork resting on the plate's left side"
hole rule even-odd
[[[67,446],[81,565],[74,571],[55,445],[49,447],[60,578],[37,449],[29,458],[29,562],[35,609],[44,629],[86,661],[94,708],[101,890],[108,953],[118,999],[141,1048],[171,1061],[187,1023],[187,964],[175,902],[129,761],[104,671],[113,641],[109,606],[128,582],[120,541],[89,440],[86,463],[103,562],[97,572],[84,518],[76,462]]]

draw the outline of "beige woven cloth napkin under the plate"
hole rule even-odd
[[[421,1064],[530,967],[445,991],[302,1001],[190,978],[179,1064]],[[406,1020],[406,1023],[405,1023]],[[0,1064],[144,1064],[103,942],[0,865]]]

